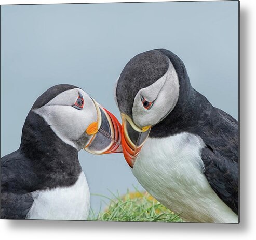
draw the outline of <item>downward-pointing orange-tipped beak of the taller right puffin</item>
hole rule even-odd
[[[149,136],[151,126],[145,126],[142,129],[137,127],[131,118],[125,114],[122,116],[122,147],[126,162],[131,168],[136,161],[138,154]]]

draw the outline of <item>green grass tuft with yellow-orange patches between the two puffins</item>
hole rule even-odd
[[[102,197],[107,198],[105,196]],[[107,199],[110,200],[110,203],[105,211],[97,215],[91,211],[88,220],[182,222],[182,219],[178,215],[160,204],[147,192],[140,192],[138,190],[129,192],[128,190],[124,196],[113,194],[113,199]]]

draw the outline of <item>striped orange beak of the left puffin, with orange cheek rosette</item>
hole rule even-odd
[[[92,135],[92,138],[84,147],[85,151],[96,155],[122,153],[121,124],[111,112],[100,106],[95,100],[94,102],[98,113],[98,122],[91,123],[86,129],[86,133]]]

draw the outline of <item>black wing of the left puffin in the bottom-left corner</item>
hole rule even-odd
[[[33,204],[32,194],[24,185],[26,168],[19,151],[1,158],[1,219],[25,219]]]

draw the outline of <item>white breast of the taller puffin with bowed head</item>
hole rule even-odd
[[[189,222],[238,223],[210,187],[200,157],[203,140],[190,133],[146,140],[132,169],[159,202]]]

